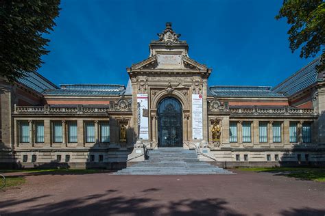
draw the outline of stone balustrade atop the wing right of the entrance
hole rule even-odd
[[[305,114],[311,115],[316,114],[313,109],[296,109],[296,108],[251,108],[251,109],[239,109],[230,108],[230,113],[252,113],[252,114],[267,114],[267,113],[279,113],[279,114]]]

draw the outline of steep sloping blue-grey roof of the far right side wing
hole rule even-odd
[[[321,57],[317,57],[313,62],[307,64],[291,77],[288,77],[285,81],[282,81],[282,83],[272,88],[272,91],[285,94],[286,96],[292,96],[309,85],[312,85],[317,81],[317,77],[319,77],[316,66],[320,64],[320,60]],[[324,77],[322,77],[322,79],[324,79]]]

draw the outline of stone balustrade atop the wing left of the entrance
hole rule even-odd
[[[14,105],[15,114],[23,113],[34,113],[34,114],[49,114],[49,113],[74,113],[74,114],[91,114],[91,113],[107,113],[110,111],[132,111],[131,107],[83,107],[78,105],[77,107],[51,107],[50,105],[45,106],[16,106]]]

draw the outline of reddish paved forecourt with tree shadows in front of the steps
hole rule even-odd
[[[39,174],[0,191],[0,215],[325,215],[325,183],[269,173]]]

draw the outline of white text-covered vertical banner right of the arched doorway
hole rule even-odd
[[[192,94],[192,138],[203,139],[202,94]]]

